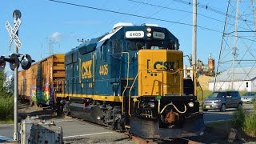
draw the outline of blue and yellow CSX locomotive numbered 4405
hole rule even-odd
[[[197,136],[204,128],[194,82],[183,78],[178,38],[166,28],[118,23],[65,55],[58,111],[142,138]]]

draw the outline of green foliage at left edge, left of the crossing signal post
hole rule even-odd
[[[12,119],[14,111],[14,97],[3,87],[5,80],[6,74],[0,71],[0,120]]]

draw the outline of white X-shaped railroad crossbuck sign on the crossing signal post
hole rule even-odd
[[[10,23],[7,21],[6,22],[6,29],[8,30],[9,34],[10,34],[10,41],[9,41],[9,48],[14,40],[16,46],[18,48],[20,48],[22,46],[22,42],[19,40],[18,35],[17,35],[17,31],[19,26],[21,26],[21,20],[18,18],[15,22],[14,28],[12,28],[10,26]]]

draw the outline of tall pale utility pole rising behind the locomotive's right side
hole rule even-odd
[[[197,94],[196,74],[197,74],[197,0],[193,0],[193,29],[192,29],[192,66],[193,66],[193,81],[194,81],[194,94]]]

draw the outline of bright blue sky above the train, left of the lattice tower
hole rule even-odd
[[[9,50],[10,35],[5,27],[7,21],[14,26],[12,15],[14,10],[22,12],[22,24],[18,31],[18,38],[22,42],[19,53],[30,54],[35,61],[49,56],[50,47],[56,54],[66,53],[81,43],[78,39],[97,38],[109,32],[118,22],[131,22],[134,25],[154,23],[166,27],[179,39],[180,50],[184,55],[191,54],[192,0],[59,1],[77,6],[49,0],[2,1],[0,5],[0,55],[9,55],[14,52],[14,43]],[[201,59],[205,64],[207,64],[209,53],[216,61],[218,60],[226,7],[227,0],[198,0],[197,59]],[[233,22],[230,21],[230,23]],[[185,62],[188,64],[186,59]]]

